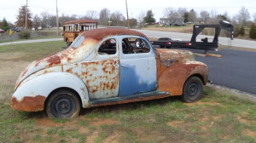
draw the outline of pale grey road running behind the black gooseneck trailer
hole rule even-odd
[[[192,37],[192,34],[177,33],[177,32],[170,32],[170,31],[147,31],[147,30],[136,30],[136,31],[143,32],[147,37],[156,37],[156,38],[172,37],[174,39],[190,41]],[[201,38],[205,38],[205,37],[213,38],[212,36],[199,35],[197,37],[197,40],[201,40]],[[218,43],[222,45],[230,45],[230,38],[218,37]],[[234,39],[231,41],[231,45],[235,47],[241,47],[241,48],[256,49],[256,41]]]

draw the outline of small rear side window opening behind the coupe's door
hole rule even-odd
[[[98,54],[116,54],[116,40],[109,38],[104,41],[98,50]]]

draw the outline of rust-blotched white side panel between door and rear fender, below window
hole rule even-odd
[[[119,89],[119,60],[79,62],[68,66],[65,72],[72,73],[86,84],[90,98],[115,96]]]

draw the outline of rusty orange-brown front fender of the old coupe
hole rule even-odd
[[[207,65],[198,61],[173,64],[160,75],[159,89],[169,92],[171,95],[181,95],[183,94],[184,83],[192,75],[201,77],[202,83],[206,84],[208,80]]]

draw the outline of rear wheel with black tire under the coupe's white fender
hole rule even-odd
[[[50,118],[75,118],[79,116],[81,104],[78,96],[67,89],[50,94],[46,112]]]

